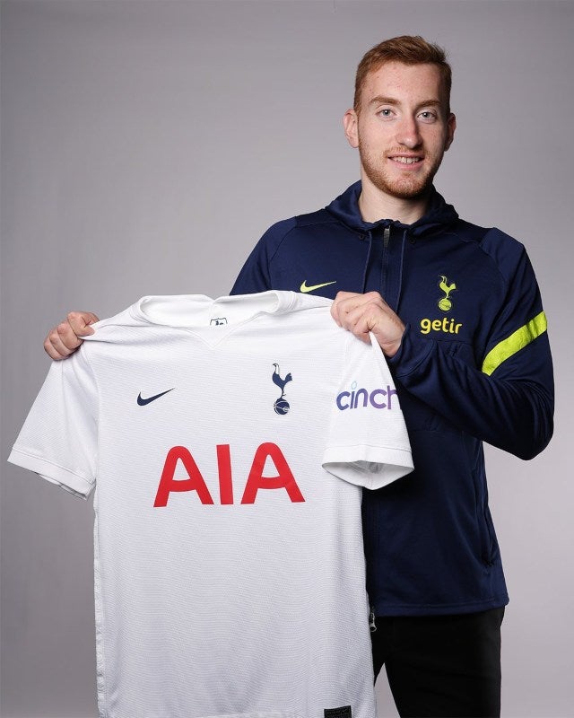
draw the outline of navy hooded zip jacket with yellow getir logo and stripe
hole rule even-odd
[[[232,293],[380,293],[404,321],[388,360],[412,474],[363,494],[368,591],[377,616],[508,602],[483,442],[521,459],[552,436],[552,358],[523,245],[459,219],[433,189],[422,219],[366,223],[361,182],[325,209],[274,224]],[[502,478],[502,477],[500,477]]]

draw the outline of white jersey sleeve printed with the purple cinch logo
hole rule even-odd
[[[413,470],[395,385],[377,340],[348,335],[322,466],[352,484],[376,489]]]

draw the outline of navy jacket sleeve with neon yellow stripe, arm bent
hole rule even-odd
[[[520,245],[521,247],[521,245]],[[407,326],[389,360],[396,381],[458,430],[532,459],[553,430],[552,356],[534,271],[524,248],[504,279],[474,364]]]

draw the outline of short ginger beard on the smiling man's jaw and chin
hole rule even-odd
[[[396,153],[400,152],[400,149],[396,151]],[[368,153],[361,143],[361,139],[359,140],[359,156],[363,171],[376,188],[397,199],[418,199],[426,195],[431,189],[434,176],[439,171],[443,154],[444,151],[429,158],[425,153],[425,159],[422,162],[429,162],[429,160],[431,162],[426,171],[418,172],[414,177],[411,172],[401,172],[400,166],[396,169],[387,167],[387,154],[381,161],[379,157],[373,157]]]

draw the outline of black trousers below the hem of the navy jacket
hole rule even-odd
[[[498,718],[503,617],[377,617],[375,678],[384,665],[402,718]]]

